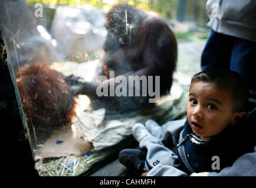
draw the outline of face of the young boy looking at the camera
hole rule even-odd
[[[216,88],[214,83],[194,82],[189,90],[188,122],[195,135],[211,140],[229,124],[236,122],[232,112],[234,102],[227,90]]]

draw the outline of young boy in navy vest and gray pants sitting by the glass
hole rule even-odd
[[[247,102],[248,90],[237,72],[209,69],[196,73],[191,80],[187,119],[178,143],[173,135],[169,136],[176,151],[163,145],[161,127],[148,120],[146,127],[136,123],[132,128],[142,150],[122,150],[119,160],[137,175],[158,164],[173,166],[186,174],[219,172],[244,153],[253,152],[255,122],[244,118],[250,115],[245,113]]]

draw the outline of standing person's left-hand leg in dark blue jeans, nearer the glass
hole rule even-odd
[[[227,68],[234,43],[234,37],[211,31],[201,56],[201,69]]]

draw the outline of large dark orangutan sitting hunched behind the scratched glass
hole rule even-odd
[[[165,20],[155,12],[117,4],[106,15],[106,28],[105,54],[99,75],[109,78],[110,70],[113,70],[115,76],[126,78],[130,75],[160,76],[160,95],[169,93],[178,49],[176,38]],[[110,81],[104,84],[109,85]],[[78,82],[71,86],[74,94],[88,95],[96,103],[102,102],[105,108],[136,109],[131,107],[131,101],[137,109],[148,105],[145,98],[100,98],[96,96],[96,88],[94,82]],[[130,102],[125,103],[128,100]]]

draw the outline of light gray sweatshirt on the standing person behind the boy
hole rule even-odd
[[[215,32],[256,42],[255,0],[208,0],[206,9]]]

